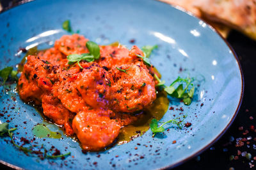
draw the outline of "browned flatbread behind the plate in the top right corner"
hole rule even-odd
[[[224,37],[228,28],[256,39],[256,0],[159,0],[181,6],[212,24]],[[216,25],[217,24],[217,25]],[[223,25],[220,25],[223,24]]]

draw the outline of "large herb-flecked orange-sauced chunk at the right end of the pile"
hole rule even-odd
[[[110,89],[113,111],[143,110],[156,99],[154,78],[143,62],[113,68],[109,74],[113,78]]]

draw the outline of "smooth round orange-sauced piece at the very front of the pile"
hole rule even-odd
[[[90,151],[101,150],[110,145],[120,131],[120,125],[115,120],[100,116],[95,110],[78,113],[73,120],[72,127],[83,150]]]

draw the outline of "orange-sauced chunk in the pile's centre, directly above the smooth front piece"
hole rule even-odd
[[[84,101],[92,108],[108,108],[111,77],[106,69],[92,63],[77,76],[76,85]]]

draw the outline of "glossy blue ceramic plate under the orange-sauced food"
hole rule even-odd
[[[130,40],[134,39],[134,44],[140,47],[159,45],[150,60],[166,84],[188,74],[200,80],[190,106],[170,100],[170,106],[184,109],[182,112],[188,115],[185,122],[192,125],[182,130],[167,126],[170,130],[155,138],[148,130],[127,144],[99,153],[82,153],[79,144],[62,132],[62,139],[36,139],[38,145],[44,144],[47,148],[54,145],[61,153],[71,152],[74,157],[65,160],[29,157],[4,141],[10,138],[0,138],[0,160],[4,164],[26,169],[173,167],[211,146],[236,117],[243,96],[243,76],[232,49],[202,20],[158,1],[38,0],[4,11],[0,14],[0,68],[15,67],[20,62],[23,56],[20,47],[52,46],[56,39],[67,34],[61,29],[67,19],[74,31],[79,30],[99,44],[120,41],[131,48]],[[18,126],[17,138],[33,139],[31,129],[43,119],[33,107],[19,99],[14,88],[15,85],[11,85],[6,94],[1,92],[0,111],[4,116],[0,120],[10,120],[11,127]],[[178,113],[180,110],[168,110],[163,121]]]

